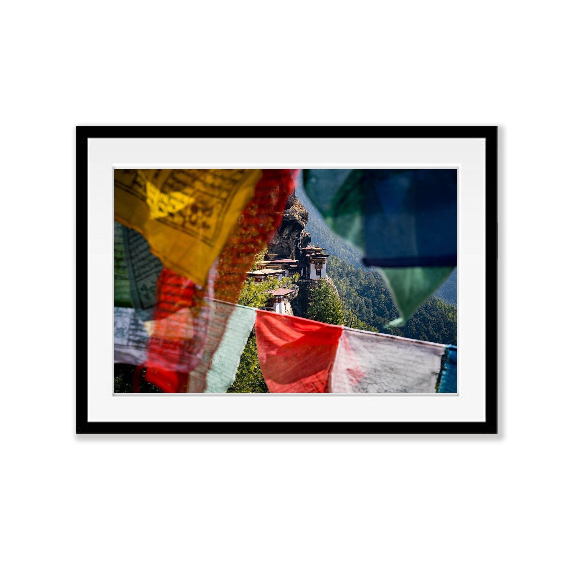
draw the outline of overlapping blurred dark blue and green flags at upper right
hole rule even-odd
[[[457,265],[457,170],[305,170],[307,196],[340,237],[380,267],[400,319]]]

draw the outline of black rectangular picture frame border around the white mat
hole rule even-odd
[[[76,295],[77,434],[496,434],[497,127],[76,127],[76,291],[87,284],[87,149],[95,138],[485,139],[486,372],[481,422],[93,422],[87,417],[87,306]]]

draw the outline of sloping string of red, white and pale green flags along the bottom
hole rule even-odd
[[[457,392],[457,347],[329,325],[207,299],[201,360],[190,372],[149,366],[148,328],[133,308],[115,307],[115,361],[146,364],[165,392],[226,392],[255,322],[258,357],[270,392]],[[184,319],[189,308],[180,310]],[[177,317],[169,315],[166,321]],[[175,323],[178,323],[175,318]],[[168,353],[166,353],[168,355]],[[442,369],[442,356],[445,367]],[[164,356],[164,355],[163,355]]]

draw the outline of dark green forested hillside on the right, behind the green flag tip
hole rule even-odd
[[[355,269],[352,264],[334,256],[327,260],[327,274],[334,280],[343,301],[347,326],[363,328],[349,324],[355,316],[380,332],[433,343],[457,344],[457,308],[453,305],[431,296],[404,327],[385,328],[398,317],[398,312],[380,274]]]

